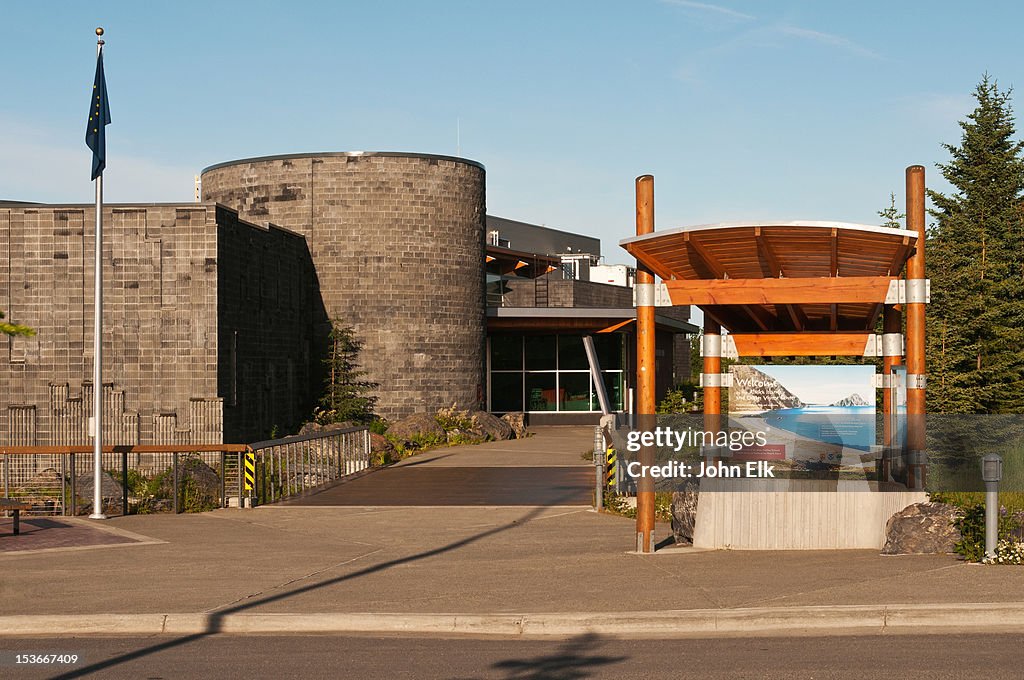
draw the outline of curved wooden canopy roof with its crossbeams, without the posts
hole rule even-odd
[[[674,304],[699,306],[740,354],[861,354],[918,235],[847,222],[700,224],[625,239]],[[898,295],[898,291],[897,291]]]

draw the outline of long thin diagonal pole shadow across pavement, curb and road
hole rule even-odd
[[[557,503],[552,503],[552,505],[558,505],[558,504]],[[280,593],[280,594],[276,594],[276,595],[269,595],[269,596],[260,597],[260,598],[257,598],[257,599],[247,600],[244,603],[237,604],[237,605],[228,607],[226,609],[222,609],[220,611],[214,611],[214,612],[212,612],[210,614],[210,624],[207,627],[207,630],[204,631],[204,632],[202,632],[202,633],[196,633],[194,635],[187,635],[187,636],[180,637],[180,638],[174,638],[172,640],[167,640],[166,642],[161,642],[160,644],[151,645],[151,646],[145,647],[143,649],[137,649],[135,651],[132,651],[132,652],[129,652],[129,653],[126,653],[126,654],[121,654],[120,656],[115,656],[114,658],[110,658],[110,660],[104,661],[104,662],[98,662],[96,664],[91,664],[91,665],[85,666],[83,668],[75,669],[73,671],[69,671],[68,673],[62,673],[60,675],[53,676],[51,678],[51,680],[65,680],[65,679],[68,679],[68,678],[81,678],[81,677],[84,677],[86,675],[89,675],[90,673],[98,673],[100,671],[114,668],[114,667],[116,667],[116,666],[118,666],[120,664],[123,664],[123,663],[126,663],[126,662],[130,662],[130,661],[135,661],[135,660],[138,660],[138,658],[142,658],[144,656],[148,656],[150,654],[154,654],[154,653],[157,653],[159,651],[163,651],[165,649],[173,649],[174,647],[178,647],[178,646],[181,646],[181,645],[188,644],[188,643],[194,642],[196,640],[203,639],[204,637],[206,637],[208,635],[216,635],[216,634],[222,632],[221,629],[222,629],[222,626],[223,626],[223,620],[224,620],[225,617],[227,617],[229,614],[240,613],[240,612],[246,611],[247,609],[251,609],[253,607],[256,607],[256,606],[259,606],[259,605],[262,605],[262,604],[267,604],[267,603],[270,603],[270,602],[278,602],[278,601],[281,601],[281,600],[288,599],[288,598],[290,598],[290,597],[292,597],[294,595],[300,595],[300,594],[303,594],[303,593],[309,593],[309,592],[312,592],[312,591],[315,591],[315,590],[319,590],[321,588],[324,588],[324,587],[327,587],[327,586],[333,586],[333,585],[336,585],[336,584],[344,583],[346,581],[352,581],[352,580],[358,579],[360,577],[369,576],[371,573],[377,573],[379,571],[384,571],[384,570],[387,570],[387,569],[389,569],[391,567],[398,566],[399,564],[408,564],[410,562],[415,562],[415,561],[418,561],[418,560],[421,560],[421,559],[426,559],[428,557],[434,557],[436,555],[442,555],[444,553],[452,552],[454,550],[459,550],[460,548],[464,548],[465,546],[468,546],[468,545],[471,545],[473,543],[476,543],[477,541],[481,541],[483,539],[486,539],[488,537],[495,536],[497,534],[501,534],[503,532],[507,532],[507,530],[509,530],[511,528],[515,528],[517,526],[525,524],[526,522],[530,521],[535,517],[539,516],[546,509],[547,509],[547,506],[536,507],[536,508],[531,509],[529,512],[527,512],[526,514],[524,514],[519,519],[514,519],[514,520],[512,520],[511,522],[509,522],[507,524],[503,524],[501,526],[496,526],[496,527],[487,529],[485,532],[481,532],[481,533],[476,534],[474,536],[470,536],[468,538],[462,539],[461,541],[456,541],[454,543],[450,543],[446,546],[441,546],[440,548],[434,548],[432,550],[425,550],[425,551],[417,553],[415,555],[410,555],[408,557],[400,557],[398,559],[392,559],[392,560],[389,560],[387,562],[382,562],[381,564],[376,564],[374,566],[368,566],[368,567],[366,567],[364,569],[359,569],[358,571],[353,571],[352,573],[346,573],[346,575],[343,575],[343,576],[340,576],[340,577],[336,577],[334,579],[329,579],[328,581],[323,581],[321,583],[309,584],[308,586],[303,586],[301,588],[289,591],[287,593]],[[575,677],[584,677],[584,676],[547,676],[547,675],[545,675],[545,676],[528,676],[527,675],[527,676],[510,676],[510,677],[524,677],[524,678],[534,678],[534,677],[536,677],[536,678],[549,678],[549,677],[550,678],[575,678]]]

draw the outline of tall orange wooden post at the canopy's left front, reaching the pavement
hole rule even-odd
[[[637,236],[654,231],[654,177],[636,179]],[[654,416],[654,274],[637,260],[637,428],[653,431]],[[654,463],[652,447],[640,449],[641,466]],[[654,552],[654,479],[643,475],[637,482],[637,552]]]

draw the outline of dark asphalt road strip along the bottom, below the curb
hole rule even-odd
[[[3,678],[765,678],[969,680],[1024,676],[1024,635],[713,640],[199,636],[0,640]],[[15,665],[71,652],[75,666]]]

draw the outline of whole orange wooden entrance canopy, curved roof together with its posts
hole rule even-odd
[[[721,427],[722,329],[745,356],[883,356],[888,386],[904,360],[906,314],[906,485],[925,470],[925,169],[906,169],[907,228],[829,221],[700,224],[654,230],[654,178],[636,180],[636,236],[620,242],[637,259],[637,424],[654,426],[654,277],[673,304],[705,314],[705,428]],[[905,279],[900,279],[905,267]],[[883,333],[876,333],[883,317]],[[883,411],[892,412],[890,390]],[[884,443],[890,444],[888,418]],[[707,455],[716,457],[712,451]],[[653,460],[640,450],[641,464]],[[652,480],[637,494],[637,552],[650,552]]]

